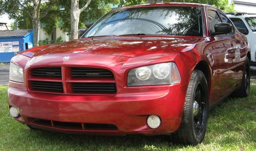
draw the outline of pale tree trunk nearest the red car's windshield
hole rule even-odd
[[[80,17],[79,0],[71,0],[71,40],[78,38],[78,24]]]

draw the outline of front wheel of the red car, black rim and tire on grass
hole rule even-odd
[[[208,94],[208,85],[203,72],[193,71],[187,88],[181,126],[171,135],[173,142],[197,145],[203,141],[208,120]]]

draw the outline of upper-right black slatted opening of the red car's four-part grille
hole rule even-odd
[[[106,69],[97,69],[97,68],[80,68],[74,67],[71,68],[72,77],[74,78],[102,78],[102,77],[110,77],[114,78],[114,75],[111,71]]]

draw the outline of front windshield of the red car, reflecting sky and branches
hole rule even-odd
[[[201,9],[196,7],[145,7],[114,10],[97,21],[83,37],[202,36],[201,16]]]

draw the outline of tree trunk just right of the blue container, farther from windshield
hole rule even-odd
[[[38,42],[39,23],[40,23],[40,14],[39,14],[40,4],[41,4],[40,0],[34,0],[33,2],[32,26],[34,29],[34,34],[33,34],[34,47],[38,46],[37,42]]]

